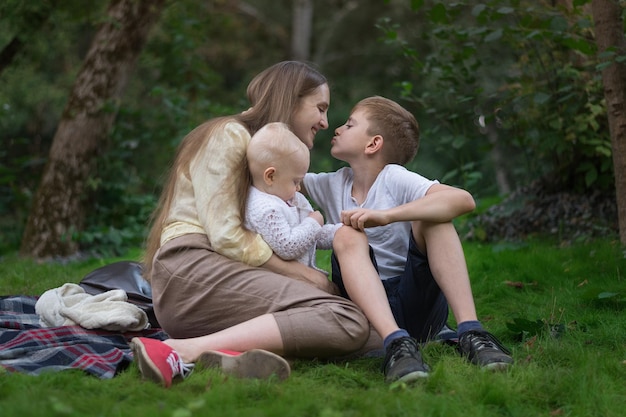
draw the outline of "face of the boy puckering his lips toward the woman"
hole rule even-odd
[[[330,142],[330,154],[335,158],[350,163],[351,159],[363,154],[371,136],[367,134],[369,122],[365,110],[355,110],[346,123],[335,129],[335,136]]]

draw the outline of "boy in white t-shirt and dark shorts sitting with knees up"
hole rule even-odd
[[[428,375],[417,343],[444,328],[448,306],[461,353],[479,366],[506,368],[513,363],[509,352],[477,319],[452,224],[475,208],[474,200],[406,170],[418,144],[411,113],[386,98],[366,98],[331,141],[332,156],[350,167],[306,175],[303,193],[327,220],[352,226],[335,234],[332,279],[383,338],[388,382]]]

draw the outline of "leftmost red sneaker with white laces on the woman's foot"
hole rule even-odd
[[[130,348],[141,375],[165,388],[172,385],[174,377],[186,378],[193,370],[193,364],[184,363],[174,349],[159,340],[134,337]]]

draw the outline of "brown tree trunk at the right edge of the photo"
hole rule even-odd
[[[619,236],[626,246],[626,37],[622,7],[617,0],[591,2],[598,54],[613,53],[602,70],[602,84],[613,152]],[[618,57],[621,62],[616,60]]]

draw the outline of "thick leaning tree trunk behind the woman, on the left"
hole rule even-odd
[[[22,256],[68,256],[78,250],[72,235],[83,227],[86,180],[113,124],[115,99],[164,1],[111,0],[54,136],[22,237]]]

